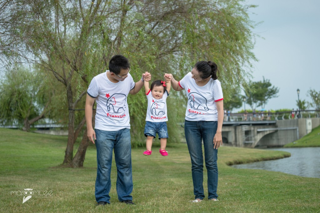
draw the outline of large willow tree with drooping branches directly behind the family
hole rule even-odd
[[[73,162],[76,135],[83,124],[76,127],[74,109],[83,108],[79,102],[87,85],[108,68],[115,54],[129,58],[135,81],[145,71],[153,80],[163,79],[164,73],[179,79],[197,60],[213,60],[220,67],[227,97],[229,88],[245,83],[250,61],[255,60],[249,7],[241,0],[17,1],[11,7],[14,28],[10,30],[23,44],[20,51],[28,53],[19,52],[20,58],[38,63],[65,88],[69,134],[63,163],[81,166],[79,160]],[[146,104],[141,104],[145,97],[143,92],[129,97],[132,142],[138,146],[145,140]],[[170,141],[179,140],[175,133],[183,120],[185,109],[177,107],[185,103],[182,99],[172,92],[168,101]],[[80,147],[85,152],[87,141],[83,141]]]

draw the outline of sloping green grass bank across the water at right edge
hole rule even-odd
[[[317,147],[320,146],[320,126],[314,128],[309,134],[284,147]]]

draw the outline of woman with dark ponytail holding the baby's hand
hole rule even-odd
[[[218,148],[222,145],[222,122],[224,116],[223,94],[217,80],[217,65],[211,61],[199,61],[191,72],[179,82],[172,74],[165,74],[176,91],[185,90],[188,104],[185,117],[185,136],[191,158],[191,171],[195,200],[204,199],[203,152],[208,173],[208,199],[218,201]]]

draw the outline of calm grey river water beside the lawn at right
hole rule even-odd
[[[280,171],[302,177],[320,178],[320,147],[268,148],[268,150],[290,152],[291,157],[233,165],[232,167],[238,169]]]

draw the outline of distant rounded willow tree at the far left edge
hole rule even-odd
[[[44,118],[50,97],[42,73],[13,67],[10,72],[5,72],[0,83],[1,124],[17,124],[22,130],[30,131],[33,123]]]

